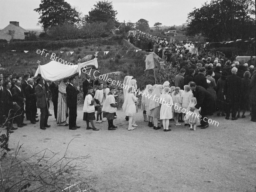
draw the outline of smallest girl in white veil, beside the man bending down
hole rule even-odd
[[[199,113],[200,113],[200,109],[195,108],[195,105],[197,104],[197,100],[195,97],[193,97],[190,102],[189,102],[189,106],[187,108],[186,111],[186,115],[184,117],[184,119],[187,120],[187,122],[190,124],[190,130],[194,130],[196,128],[196,124],[200,123],[200,120],[198,119]],[[194,111],[191,111],[191,108],[195,108]],[[192,127],[193,126],[193,127]]]

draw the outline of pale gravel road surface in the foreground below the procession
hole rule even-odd
[[[51,106],[52,108],[52,106]],[[50,110],[53,114],[53,110]],[[39,129],[29,124],[10,137],[10,147],[23,143],[21,156],[49,148],[63,153],[70,140],[73,156],[89,154],[85,177],[96,177],[97,192],[252,192],[256,185],[256,125],[245,119],[225,120],[211,116],[219,126],[189,131],[184,126],[164,132],[149,128],[142,111],[136,114],[137,129],[128,131],[122,111],[117,111],[116,131],[107,122],[96,124],[99,131],[85,129],[79,106],[75,131],[57,126]],[[82,173],[83,174],[83,173]],[[93,183],[92,183],[93,184]]]

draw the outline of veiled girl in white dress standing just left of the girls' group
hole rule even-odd
[[[135,126],[133,124],[134,114],[136,113],[137,98],[134,96],[134,88],[130,87],[128,90],[127,98],[122,106],[123,111],[125,111],[125,116],[129,116],[128,130],[134,130]]]

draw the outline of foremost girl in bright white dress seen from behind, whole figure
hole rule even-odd
[[[160,119],[163,119],[163,131],[171,131],[169,129],[169,119],[172,119],[172,96],[169,95],[170,88],[165,87],[160,95]]]

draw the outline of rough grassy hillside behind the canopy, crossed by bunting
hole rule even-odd
[[[154,84],[153,70],[145,70],[145,56],[149,52],[135,51],[138,49],[130,44],[121,36],[112,38],[99,38],[90,40],[68,40],[68,41],[23,41],[13,42],[6,47],[2,47],[4,51],[0,54],[0,64],[6,70],[3,74],[12,73],[15,75],[23,75],[24,73],[35,74],[38,67],[37,61],[41,61],[41,65],[51,61],[50,55],[55,54],[55,57],[61,58],[63,61],[77,64],[79,58],[84,58],[86,55],[97,55],[99,71],[101,74],[122,71],[121,76],[115,77],[123,81],[124,76],[134,76],[137,79],[138,87],[145,87],[146,84]],[[36,53],[37,49],[46,49],[49,55]],[[13,52],[11,50],[16,50]],[[29,50],[25,53],[24,50]],[[109,51],[108,54],[104,53]],[[63,52],[63,53],[61,53]],[[66,52],[73,52],[67,55]],[[156,80],[157,83],[163,83],[168,80],[172,81],[172,69],[159,68],[158,61],[156,65]],[[171,72],[169,74],[169,71]],[[169,77],[170,76],[170,77]],[[111,76],[110,76],[111,77]],[[81,78],[84,78],[84,74]]]

